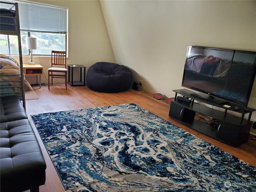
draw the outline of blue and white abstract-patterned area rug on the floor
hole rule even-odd
[[[136,104],[32,115],[67,190],[256,189],[256,167]]]

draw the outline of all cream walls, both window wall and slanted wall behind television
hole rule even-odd
[[[182,88],[187,45],[256,51],[256,1],[36,1],[69,8],[68,64],[123,64],[145,90],[167,97]],[[47,74],[50,58],[34,60]],[[256,82],[249,107],[256,108]]]

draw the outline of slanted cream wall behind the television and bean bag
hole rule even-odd
[[[256,1],[100,1],[117,63],[173,97],[187,45],[256,51]],[[256,108],[256,83],[249,101]],[[254,118],[256,115],[254,112]]]

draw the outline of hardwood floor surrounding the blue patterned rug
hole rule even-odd
[[[222,142],[216,141],[212,138],[204,136],[190,128],[182,126],[168,117],[170,105],[163,104],[159,100],[152,98],[152,94],[141,93],[135,90],[127,90],[121,93],[100,93],[90,90],[87,86],[71,87],[68,85],[68,89],[65,90],[64,84],[55,84],[50,86],[34,87],[39,99],[26,100],[26,113],[32,127],[35,130],[38,141],[42,148],[44,158],[46,160],[46,183],[44,186],[40,186],[40,192],[64,192],[65,188],[59,179],[54,165],[46,151],[44,144],[34,126],[34,123],[30,117],[31,114],[39,114],[46,112],[56,112],[65,110],[76,110],[82,108],[93,108],[98,106],[108,106],[125,103],[135,103],[138,106],[156,114],[157,116],[179,126],[180,128],[206,140],[207,142],[221,148],[222,150],[244,160],[256,166],[256,140],[252,137],[246,144],[241,145],[238,148],[226,145]]]

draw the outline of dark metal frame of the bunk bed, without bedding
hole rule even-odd
[[[18,47],[19,47],[19,58],[20,58],[20,82],[21,82],[21,89],[22,89],[22,98],[20,98],[22,100],[22,104],[24,109],[26,110],[26,102],[25,102],[25,89],[24,89],[24,73],[23,73],[23,62],[22,62],[22,49],[21,49],[21,37],[20,37],[20,18],[19,18],[19,9],[18,9],[18,3],[10,3],[10,2],[2,2],[0,1],[0,3],[4,3],[4,4],[10,4],[13,5],[12,7],[15,6],[15,19],[16,19],[16,24],[10,24],[10,23],[2,23],[2,19],[1,21],[1,26],[2,25],[12,25],[12,26],[16,26],[16,30],[0,30],[0,34],[3,35],[16,35],[18,36]],[[9,16],[0,16],[1,18],[10,18]],[[3,81],[2,81],[3,82]],[[10,81],[4,81],[4,82],[10,82]],[[12,87],[12,86],[11,86]],[[17,93],[17,92],[16,92]],[[2,94],[2,93],[1,93]],[[6,94],[6,93],[5,93]]]

